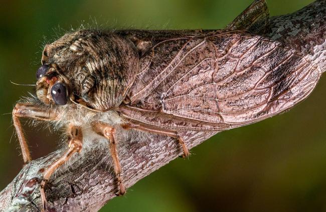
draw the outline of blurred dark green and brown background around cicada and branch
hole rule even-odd
[[[311,0],[269,0],[272,16]],[[33,88],[44,40],[105,28],[221,29],[251,0],[0,1],[0,114]],[[61,29],[61,30],[60,30]],[[62,30],[63,29],[63,30]],[[281,116],[222,132],[132,186],[101,211],[326,211],[326,79]],[[11,115],[0,115],[0,190],[22,167]],[[33,157],[57,148],[49,129],[26,126]],[[41,142],[44,137],[47,142]],[[11,140],[11,142],[10,142]]]

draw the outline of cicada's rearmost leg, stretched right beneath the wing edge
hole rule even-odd
[[[169,129],[159,129],[159,128],[154,128],[154,127],[150,127],[147,126],[145,124],[141,124],[141,123],[137,123],[137,124],[131,124],[131,123],[127,123],[127,124],[122,124],[121,125],[122,128],[124,129],[136,129],[136,130],[140,130],[140,131],[144,131],[144,132],[150,132],[150,133],[154,133],[154,134],[159,134],[159,135],[167,135],[173,138],[176,138],[179,141],[179,144],[181,145],[184,154],[182,157],[188,157],[189,156],[189,149],[184,141],[184,139],[182,139],[182,137],[180,137],[178,135],[178,132],[176,131],[172,131]]]

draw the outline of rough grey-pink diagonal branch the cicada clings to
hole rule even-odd
[[[268,37],[286,43],[326,71],[326,0],[318,0],[290,15],[273,17]],[[216,132],[183,132],[192,148]],[[96,142],[96,140],[94,140]],[[182,154],[177,141],[170,137],[149,135],[120,143],[122,179],[128,188],[139,179]],[[2,211],[39,211],[39,183],[43,168],[64,151],[59,149],[26,165],[0,192]],[[96,211],[115,197],[115,176],[108,149],[103,145],[88,148],[61,168],[46,186],[50,211]]]

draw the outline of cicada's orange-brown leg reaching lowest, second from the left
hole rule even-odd
[[[81,127],[77,127],[74,125],[70,125],[68,127],[68,136],[69,136],[69,149],[65,152],[64,155],[62,155],[59,159],[57,159],[54,163],[48,167],[44,173],[43,173],[43,179],[40,186],[40,192],[41,192],[41,200],[42,200],[42,211],[46,211],[46,195],[44,191],[44,186],[46,182],[49,180],[53,172],[59,168],[61,165],[63,165],[65,162],[71,158],[71,156],[76,152],[81,152],[82,146],[83,146],[83,134]]]

